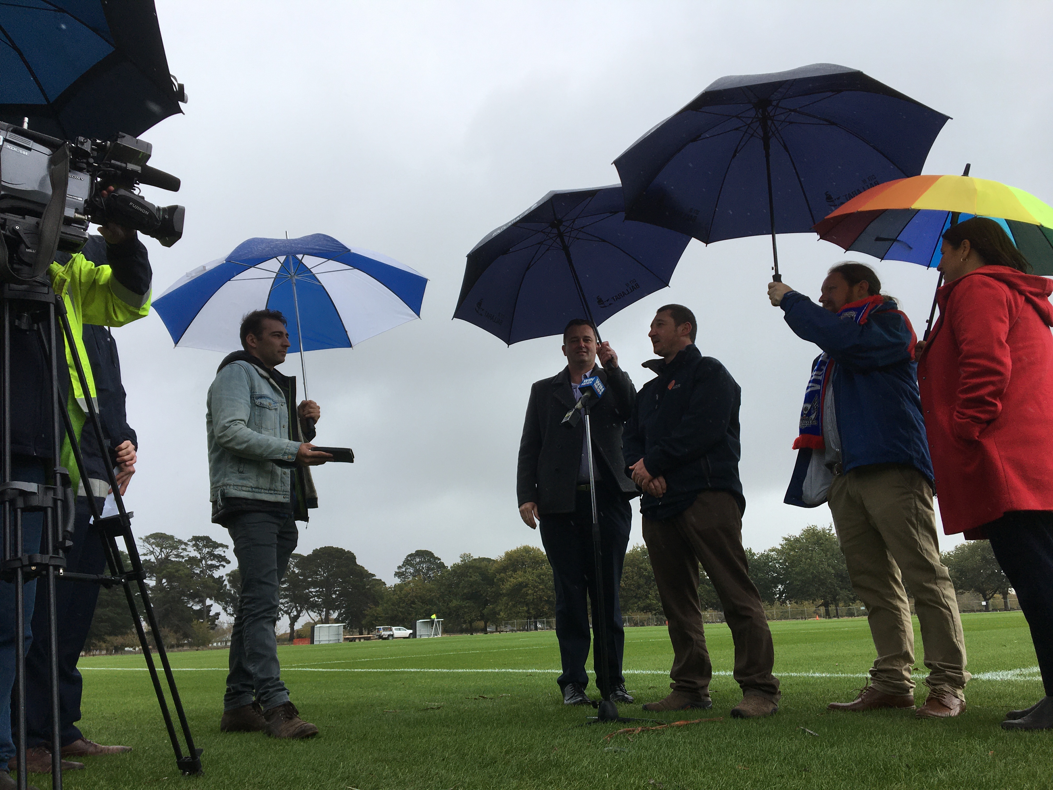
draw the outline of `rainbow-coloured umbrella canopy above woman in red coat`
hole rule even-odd
[[[936,266],[943,232],[971,217],[997,221],[1036,274],[1053,275],[1053,206],[1024,190],[984,178],[914,176],[889,181],[829,214],[815,232],[845,250]]]

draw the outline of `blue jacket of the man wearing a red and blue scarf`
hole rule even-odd
[[[871,463],[902,463],[933,479],[921,418],[914,330],[892,299],[866,323],[838,318],[803,294],[791,291],[779,305],[798,337],[814,342],[835,362],[834,414],[845,472]],[[797,454],[786,501],[801,508],[812,450]]]

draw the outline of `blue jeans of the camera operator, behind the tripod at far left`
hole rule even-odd
[[[49,465],[49,461],[46,461]],[[44,481],[44,463],[40,458],[15,456],[12,458],[12,479],[21,482]],[[40,534],[43,531],[43,513],[25,513],[22,516],[22,552],[36,554],[40,551]],[[14,527],[14,525],[12,525]],[[25,615],[25,650],[33,644],[33,603],[36,597],[36,580],[27,581],[22,588],[22,611]],[[15,756],[15,742],[11,734],[11,697],[15,686],[15,659],[18,649],[18,633],[15,631],[15,582],[0,581],[0,771],[7,770],[7,761]]]

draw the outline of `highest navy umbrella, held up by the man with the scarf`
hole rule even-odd
[[[862,72],[814,63],[721,77],[615,159],[627,216],[710,243],[808,233],[921,172],[948,121]]]

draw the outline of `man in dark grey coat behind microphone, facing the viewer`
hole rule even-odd
[[[589,459],[584,422],[573,430],[561,424],[567,410],[581,397],[581,379],[596,375],[610,390],[592,410],[596,508],[599,514],[600,554],[603,562],[603,600],[608,606],[608,677],[612,688],[600,689],[614,703],[632,704],[621,674],[625,632],[618,606],[621,569],[629,546],[633,513],[629,499],[636,495],[624,473],[621,458],[621,429],[633,408],[636,390],[618,367],[618,355],[610,343],[596,343],[591,321],[575,318],[563,330],[567,367],[552,378],[531,388],[519,445],[517,495],[519,515],[531,529],[541,522],[541,542],[552,566],[556,586],[556,638],[562,672],[556,683],[564,705],[588,705],[591,631],[599,623],[596,608],[596,565],[592,539],[592,497],[589,492]],[[603,364],[596,368],[596,357]],[[588,596],[588,597],[587,597]],[[593,651],[597,684],[600,680],[599,651]]]

